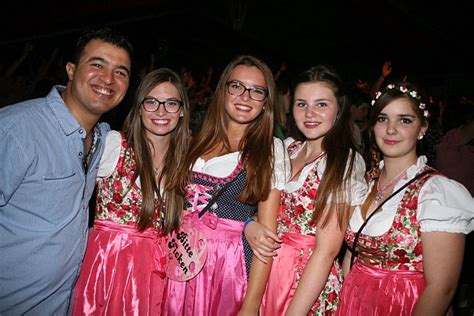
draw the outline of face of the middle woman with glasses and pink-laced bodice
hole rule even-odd
[[[237,83],[248,88],[267,89],[265,77],[262,72],[253,66],[239,65],[232,71],[229,83]],[[245,91],[242,95],[232,95],[228,92],[224,97],[225,113],[228,124],[247,125],[253,122],[262,112],[265,101],[255,101],[250,98],[250,91]]]

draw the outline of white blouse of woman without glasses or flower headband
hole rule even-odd
[[[285,139],[285,148],[288,149],[288,147],[294,141],[295,140],[291,137]],[[304,145],[305,143],[303,143],[301,147],[290,156],[290,159],[295,159],[298,156],[298,154],[301,152],[301,150],[304,148]],[[322,178],[324,174],[324,170],[326,170],[326,162],[327,162],[327,157],[324,156],[320,159],[320,162],[317,166],[316,172],[318,173],[318,177],[320,179]],[[298,179],[290,181],[286,184],[285,191],[291,193],[291,192],[295,192],[299,190],[303,186],[304,181],[308,177],[309,172],[314,168],[314,165],[316,163],[317,161],[314,161],[306,165],[303,168],[303,170],[301,170],[300,175],[298,176]],[[347,162],[346,172],[348,168],[349,168],[349,161]],[[347,203],[350,204],[351,206],[362,204],[367,194],[367,182],[365,180],[364,158],[359,153],[356,153],[356,156],[355,156],[354,165],[352,167],[352,173],[350,177],[350,184],[351,184],[350,194],[347,194],[347,196],[350,197],[350,201],[347,201]],[[329,198],[329,201],[330,200],[331,199]]]

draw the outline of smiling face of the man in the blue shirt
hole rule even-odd
[[[122,101],[130,64],[125,49],[94,39],[85,46],[77,64],[66,65],[69,82],[64,101],[79,123],[98,120]]]

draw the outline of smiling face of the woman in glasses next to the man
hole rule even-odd
[[[182,101],[178,89],[171,82],[160,83],[148,93],[145,99],[146,98],[155,98],[161,102],[167,100]],[[160,104],[158,110],[148,112],[145,111],[142,105],[140,108],[140,116],[147,137],[149,139],[157,136],[169,137],[178,125],[179,117],[182,113],[182,108],[177,113],[168,113],[165,110],[164,104]]]

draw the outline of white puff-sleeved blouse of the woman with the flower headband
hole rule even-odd
[[[426,161],[425,156],[420,156],[417,163],[407,169],[407,178],[400,180],[393,190],[396,191],[415,177],[420,169],[426,166]],[[383,161],[380,164],[380,168],[382,167]],[[379,236],[390,229],[405,191],[406,189],[403,189],[388,200],[382,210],[372,216],[363,230],[364,234]],[[418,195],[417,219],[422,232],[469,234],[474,230],[474,199],[459,182],[441,175],[432,176]],[[360,207],[356,207],[349,228],[358,231],[363,222]]]

